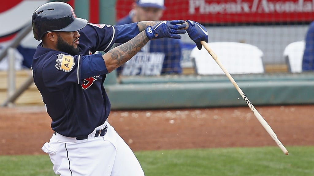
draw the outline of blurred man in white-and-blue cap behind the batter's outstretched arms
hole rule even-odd
[[[157,21],[163,15],[164,0],[136,0],[130,13],[116,25]],[[181,74],[181,42],[171,38],[149,41],[131,60],[117,69],[119,75]]]

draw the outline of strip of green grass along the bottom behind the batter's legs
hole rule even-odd
[[[309,176],[314,146],[210,148],[135,152],[146,176]],[[0,156],[1,176],[52,176],[48,155]]]

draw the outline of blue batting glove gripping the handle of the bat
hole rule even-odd
[[[187,20],[189,27],[187,28],[187,34],[196,43],[199,50],[202,49],[201,41],[208,42],[208,33],[206,28],[198,22]]]

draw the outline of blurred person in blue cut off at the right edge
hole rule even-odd
[[[305,37],[305,50],[302,59],[302,71],[314,70],[314,21],[310,24]]]

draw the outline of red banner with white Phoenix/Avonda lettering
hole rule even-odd
[[[128,14],[133,2],[133,0],[117,0],[117,19]],[[309,22],[314,20],[314,1],[312,0],[166,0],[165,6],[161,20],[191,19],[200,23]]]

